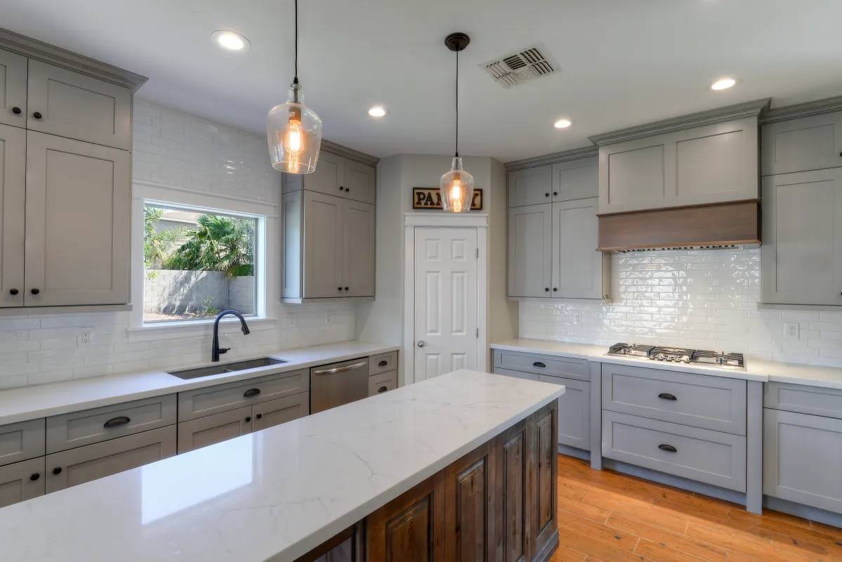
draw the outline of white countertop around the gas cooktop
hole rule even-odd
[[[713,377],[742,378],[764,383],[794,383],[824,388],[842,388],[842,368],[839,367],[781,363],[747,357],[746,369],[740,371],[718,367],[686,365],[684,363],[666,363],[639,357],[610,356],[607,354],[608,348],[605,345],[573,344],[550,340],[505,340],[493,343],[491,347],[498,350],[574,357],[615,365],[634,365],[636,367],[649,367],[664,371],[695,372]]]

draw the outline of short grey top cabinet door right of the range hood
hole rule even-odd
[[[842,111],[763,126],[763,175],[842,166]]]

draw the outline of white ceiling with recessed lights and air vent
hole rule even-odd
[[[464,30],[461,153],[509,161],[587,137],[771,97],[842,94],[839,0],[300,0],[300,77],[334,142],[449,153]],[[292,78],[292,0],[0,0],[0,26],[149,77],[139,97],[263,134]],[[214,29],[251,40],[242,54]],[[560,72],[504,89],[482,67],[541,45]],[[738,85],[712,92],[714,78]],[[373,120],[366,110],[385,104]],[[552,123],[573,120],[567,130]]]

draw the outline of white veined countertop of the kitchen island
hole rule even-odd
[[[0,509],[0,558],[292,560],[564,388],[456,371]]]

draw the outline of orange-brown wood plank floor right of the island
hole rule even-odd
[[[552,562],[842,561],[842,529],[591,470],[558,456],[559,549]]]

